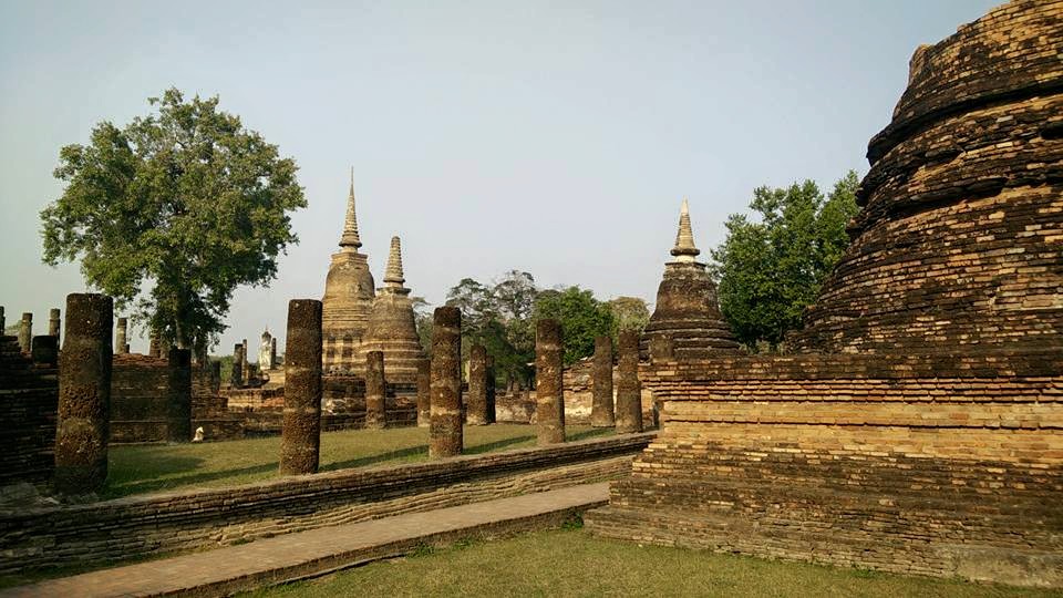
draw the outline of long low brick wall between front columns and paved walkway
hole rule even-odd
[[[0,511],[0,573],[204,548],[626,475],[651,434],[211,491]]]

